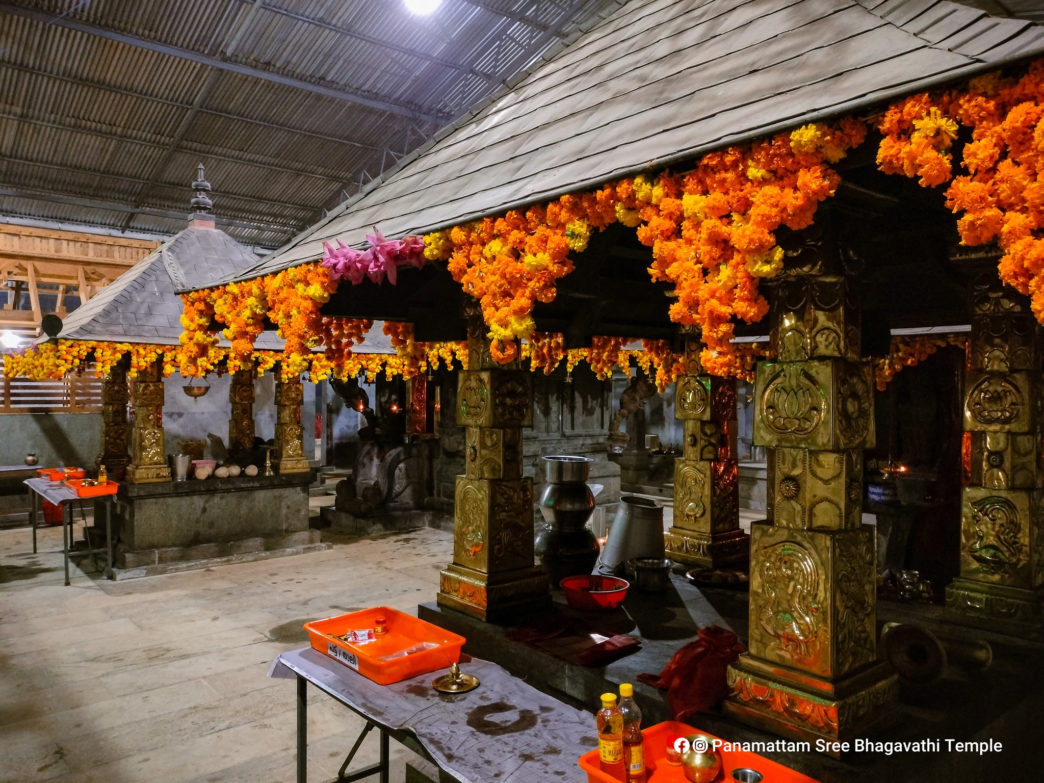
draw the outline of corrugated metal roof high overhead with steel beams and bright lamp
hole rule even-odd
[[[203,162],[276,247],[612,2],[0,1],[0,209],[173,233]]]

